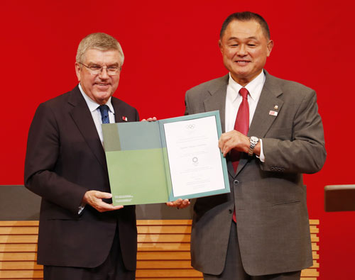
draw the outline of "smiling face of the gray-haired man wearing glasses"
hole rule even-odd
[[[85,52],[82,64],[88,67],[97,65],[99,67],[120,67],[119,52],[117,50],[96,50],[89,49]],[[109,76],[107,67],[104,67],[99,74],[92,74],[87,67],[75,62],[77,79],[84,90],[84,93],[93,101],[103,105],[107,103],[110,96],[114,94],[119,86],[119,74]]]

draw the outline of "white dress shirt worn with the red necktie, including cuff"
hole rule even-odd
[[[260,98],[261,90],[263,89],[263,85],[265,83],[265,74],[261,71],[255,79],[253,79],[249,84],[244,86],[248,89],[248,103],[249,103],[249,127],[251,121],[253,121],[253,116],[255,113],[256,105],[258,105],[258,101]],[[236,113],[238,113],[239,106],[243,97],[239,94],[239,90],[242,88],[240,84],[234,81],[231,77],[231,73],[229,73],[229,82],[226,87],[226,116],[225,116],[225,130],[229,132],[234,130],[234,123],[236,122]],[[259,159],[261,162],[265,161],[265,156],[263,155],[263,142],[260,140],[261,144],[261,153]]]

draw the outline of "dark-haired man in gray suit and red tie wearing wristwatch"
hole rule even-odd
[[[197,199],[192,266],[204,279],[300,279],[312,266],[302,174],[326,157],[315,91],[263,69],[273,41],[256,13],[226,18],[219,48],[229,74],[190,89],[185,102],[186,114],[219,110],[231,193]]]

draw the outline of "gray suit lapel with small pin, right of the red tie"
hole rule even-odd
[[[278,86],[275,77],[268,74],[266,70],[264,70],[264,72],[266,74],[266,80],[263,85],[263,90],[261,91],[258,105],[256,106],[253,120],[251,121],[248,133],[249,137],[256,136],[263,138],[275,121],[275,118],[277,118],[273,113],[271,114],[271,111],[278,113],[283,106],[283,101],[278,98],[278,96],[283,93],[282,89]],[[249,159],[248,155],[244,154],[239,161],[236,174],[243,169]]]

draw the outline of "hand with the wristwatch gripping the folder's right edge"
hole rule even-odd
[[[224,157],[231,149],[235,149],[239,152],[248,152],[250,140],[248,136],[243,133],[240,133],[237,130],[231,130],[221,135],[221,138],[219,138],[218,141],[218,147],[221,149]]]

